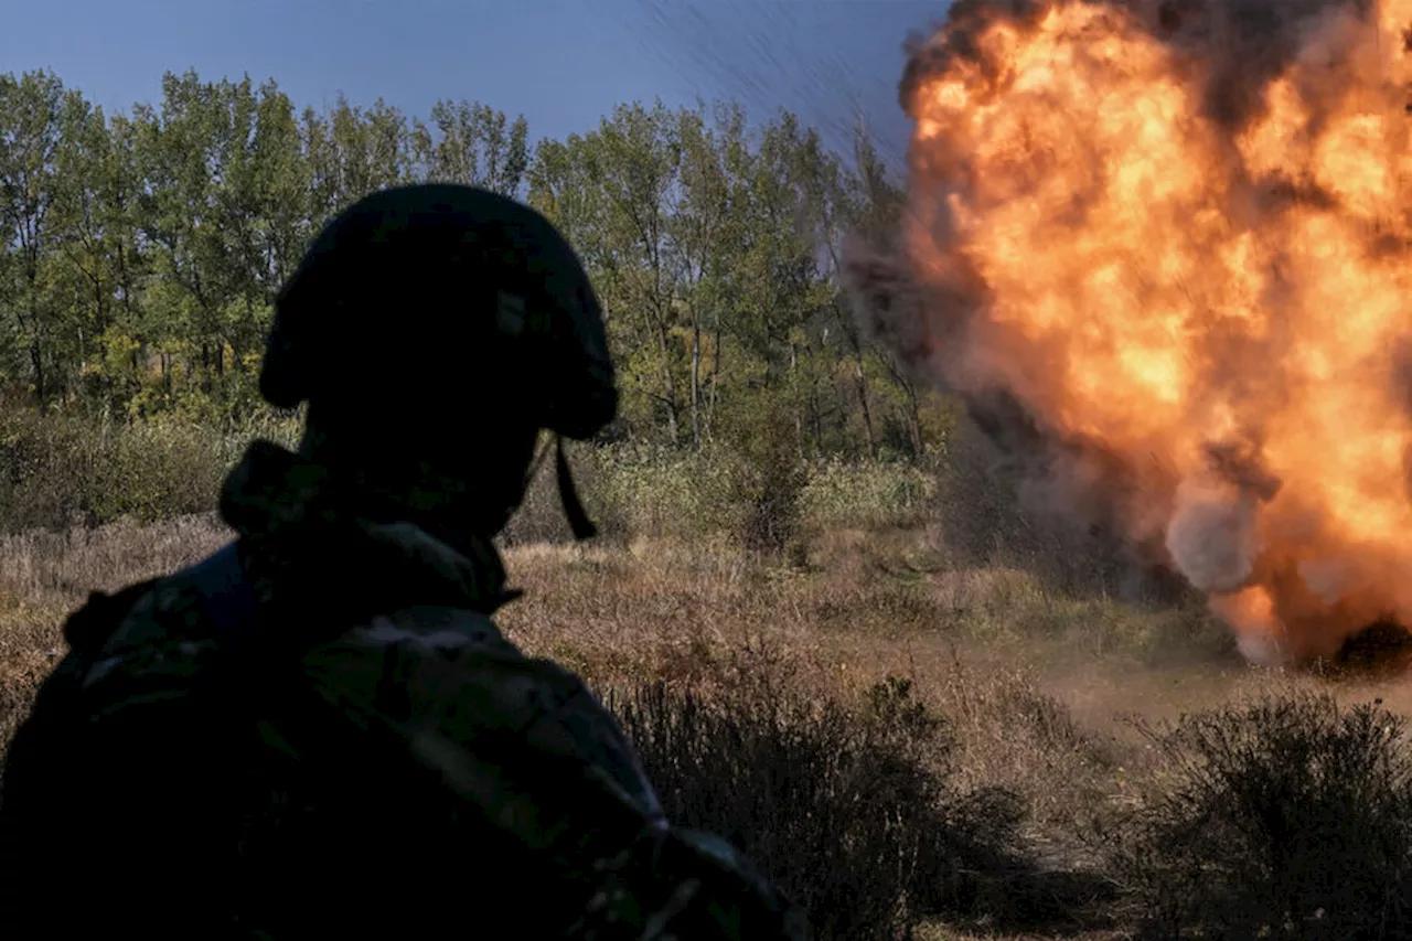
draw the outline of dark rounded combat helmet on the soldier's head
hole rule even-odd
[[[260,393],[513,411],[575,439],[617,413],[578,254],[530,206],[452,184],[383,189],[323,227],[275,301]]]

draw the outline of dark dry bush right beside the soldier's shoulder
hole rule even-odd
[[[809,913],[816,938],[909,937],[974,901],[971,870],[1008,859],[1022,817],[959,794],[943,723],[905,681],[863,708],[791,691],[778,670],[706,694],[647,684],[610,697],[668,815],[734,842]]]

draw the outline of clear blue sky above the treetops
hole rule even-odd
[[[52,68],[104,109],[161,75],[274,78],[302,107],[339,92],[425,116],[438,97],[524,113],[532,137],[618,102],[738,97],[843,140],[854,103],[901,157],[902,44],[935,0],[48,0],[6,4],[0,71]]]

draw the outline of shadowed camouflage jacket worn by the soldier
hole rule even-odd
[[[668,827],[585,685],[497,630],[493,545],[335,493],[264,442],[232,473],[233,637],[192,569],[71,617],[6,767],[7,937],[802,937],[729,845]]]

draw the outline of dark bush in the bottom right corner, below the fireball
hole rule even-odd
[[[1114,872],[1148,937],[1409,937],[1401,718],[1295,697],[1139,729],[1159,793],[1121,832]]]

